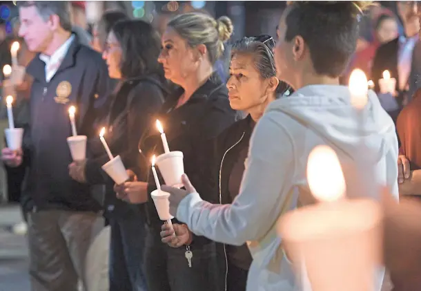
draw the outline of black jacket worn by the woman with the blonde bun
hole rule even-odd
[[[215,73],[197,89],[186,104],[174,109],[180,95],[182,91],[177,91],[173,96],[168,97],[157,119],[164,126],[170,151],[184,153],[184,171],[202,198],[210,203],[218,203],[217,180],[213,175],[215,173],[213,144],[217,135],[235,122],[236,113],[229,104],[225,84]],[[141,138],[139,149],[149,159],[153,154],[159,156],[164,153],[161,138],[155,126]],[[159,168],[157,171],[159,172]],[[152,171],[148,170],[148,172],[148,193],[150,194],[156,186]],[[159,220],[152,198],[149,198],[146,203],[146,211],[148,223],[160,229],[162,222]],[[193,244],[197,245],[208,242],[208,239],[203,237],[195,237],[193,240]]]

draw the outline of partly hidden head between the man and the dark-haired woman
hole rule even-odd
[[[92,28],[92,48],[97,50],[98,53],[104,53],[108,33],[110,32],[112,26],[114,26],[118,21],[126,19],[128,19],[126,13],[119,10],[104,12],[101,19],[99,19]]]

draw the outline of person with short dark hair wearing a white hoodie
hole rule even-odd
[[[341,162],[365,154],[375,164],[375,178],[398,197],[393,121],[370,91],[361,130],[349,88],[339,85],[358,39],[360,4],[294,1],[284,11],[275,62],[278,77],[295,93],[272,102],[255,126],[240,193],[231,205],[202,200],[185,175],[186,190],[162,186],[171,194],[171,213],[195,234],[231,245],[248,243],[253,255],[248,291],[301,289],[276,225],[288,209],[315,202],[306,180],[307,159],[315,146],[329,145]],[[367,153],[358,148],[362,137]],[[374,278],[375,290],[380,290],[383,274],[381,270]]]

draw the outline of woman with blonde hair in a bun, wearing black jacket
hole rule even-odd
[[[206,199],[214,203],[219,199],[215,194],[212,144],[219,133],[235,122],[235,111],[229,105],[226,85],[214,72],[213,65],[222,54],[224,41],[231,37],[231,28],[228,17],[215,20],[202,13],[177,15],[168,22],[161,37],[158,58],[166,79],[179,87],[168,96],[153,121],[161,121],[170,150],[183,152],[184,171],[190,173],[205,195],[209,194]],[[164,153],[155,126],[144,133],[139,149],[147,160],[154,154]],[[163,221],[150,196],[157,186],[150,166],[147,171],[148,182],[125,182],[115,189],[121,197],[130,194],[144,201],[142,213],[148,225],[145,265],[148,290],[224,290],[224,263],[217,252],[220,245],[191,234],[185,226],[176,229],[177,236],[183,238],[180,244],[169,246],[161,242]],[[190,266],[187,250],[193,253]]]

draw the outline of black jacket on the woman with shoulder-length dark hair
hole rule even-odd
[[[110,96],[108,114],[102,124],[108,128],[107,144],[115,156],[121,157],[126,169],[138,166],[139,180],[146,180],[149,165],[139,153],[139,140],[150,126],[155,126],[153,115],[161,109],[166,95],[168,91],[164,79],[150,75],[121,82]],[[92,185],[106,184],[106,214],[121,216],[128,214],[129,208],[138,209],[116,198],[112,189],[114,182],[101,169],[109,158],[98,137],[90,141],[90,147],[97,157],[86,161],[86,180]]]

